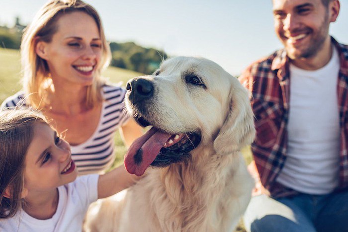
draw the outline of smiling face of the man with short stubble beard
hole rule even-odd
[[[322,49],[329,38],[330,4],[326,8],[321,0],[273,0],[275,32],[291,59],[312,58]]]

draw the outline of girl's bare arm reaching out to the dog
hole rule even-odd
[[[104,175],[100,175],[98,181],[98,199],[114,195],[123,189],[130,187],[141,178],[142,176],[138,177],[129,174],[124,165],[121,165]]]

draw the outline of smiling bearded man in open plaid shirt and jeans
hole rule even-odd
[[[348,46],[328,33],[339,10],[338,0],[273,0],[284,49],[240,77],[257,129],[248,231],[348,231]]]

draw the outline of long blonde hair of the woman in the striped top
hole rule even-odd
[[[110,46],[106,41],[101,19],[97,11],[81,0],[50,0],[35,15],[33,21],[25,29],[21,43],[21,61],[23,71],[23,87],[28,103],[35,109],[45,105],[45,94],[52,84],[47,62],[35,52],[38,41],[51,42],[52,36],[57,31],[57,19],[61,15],[71,12],[85,12],[94,18],[102,41],[102,57],[95,81],[87,86],[85,107],[93,108],[101,101],[100,88],[105,83],[101,71],[111,60]]]

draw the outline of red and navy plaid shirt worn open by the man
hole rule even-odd
[[[348,187],[348,46],[332,43],[340,56],[337,95],[340,115],[339,187]],[[256,139],[251,149],[262,185],[273,197],[295,195],[275,180],[284,166],[289,119],[289,58],[284,49],[251,64],[239,77],[252,93]],[[255,170],[256,171],[256,170]]]

